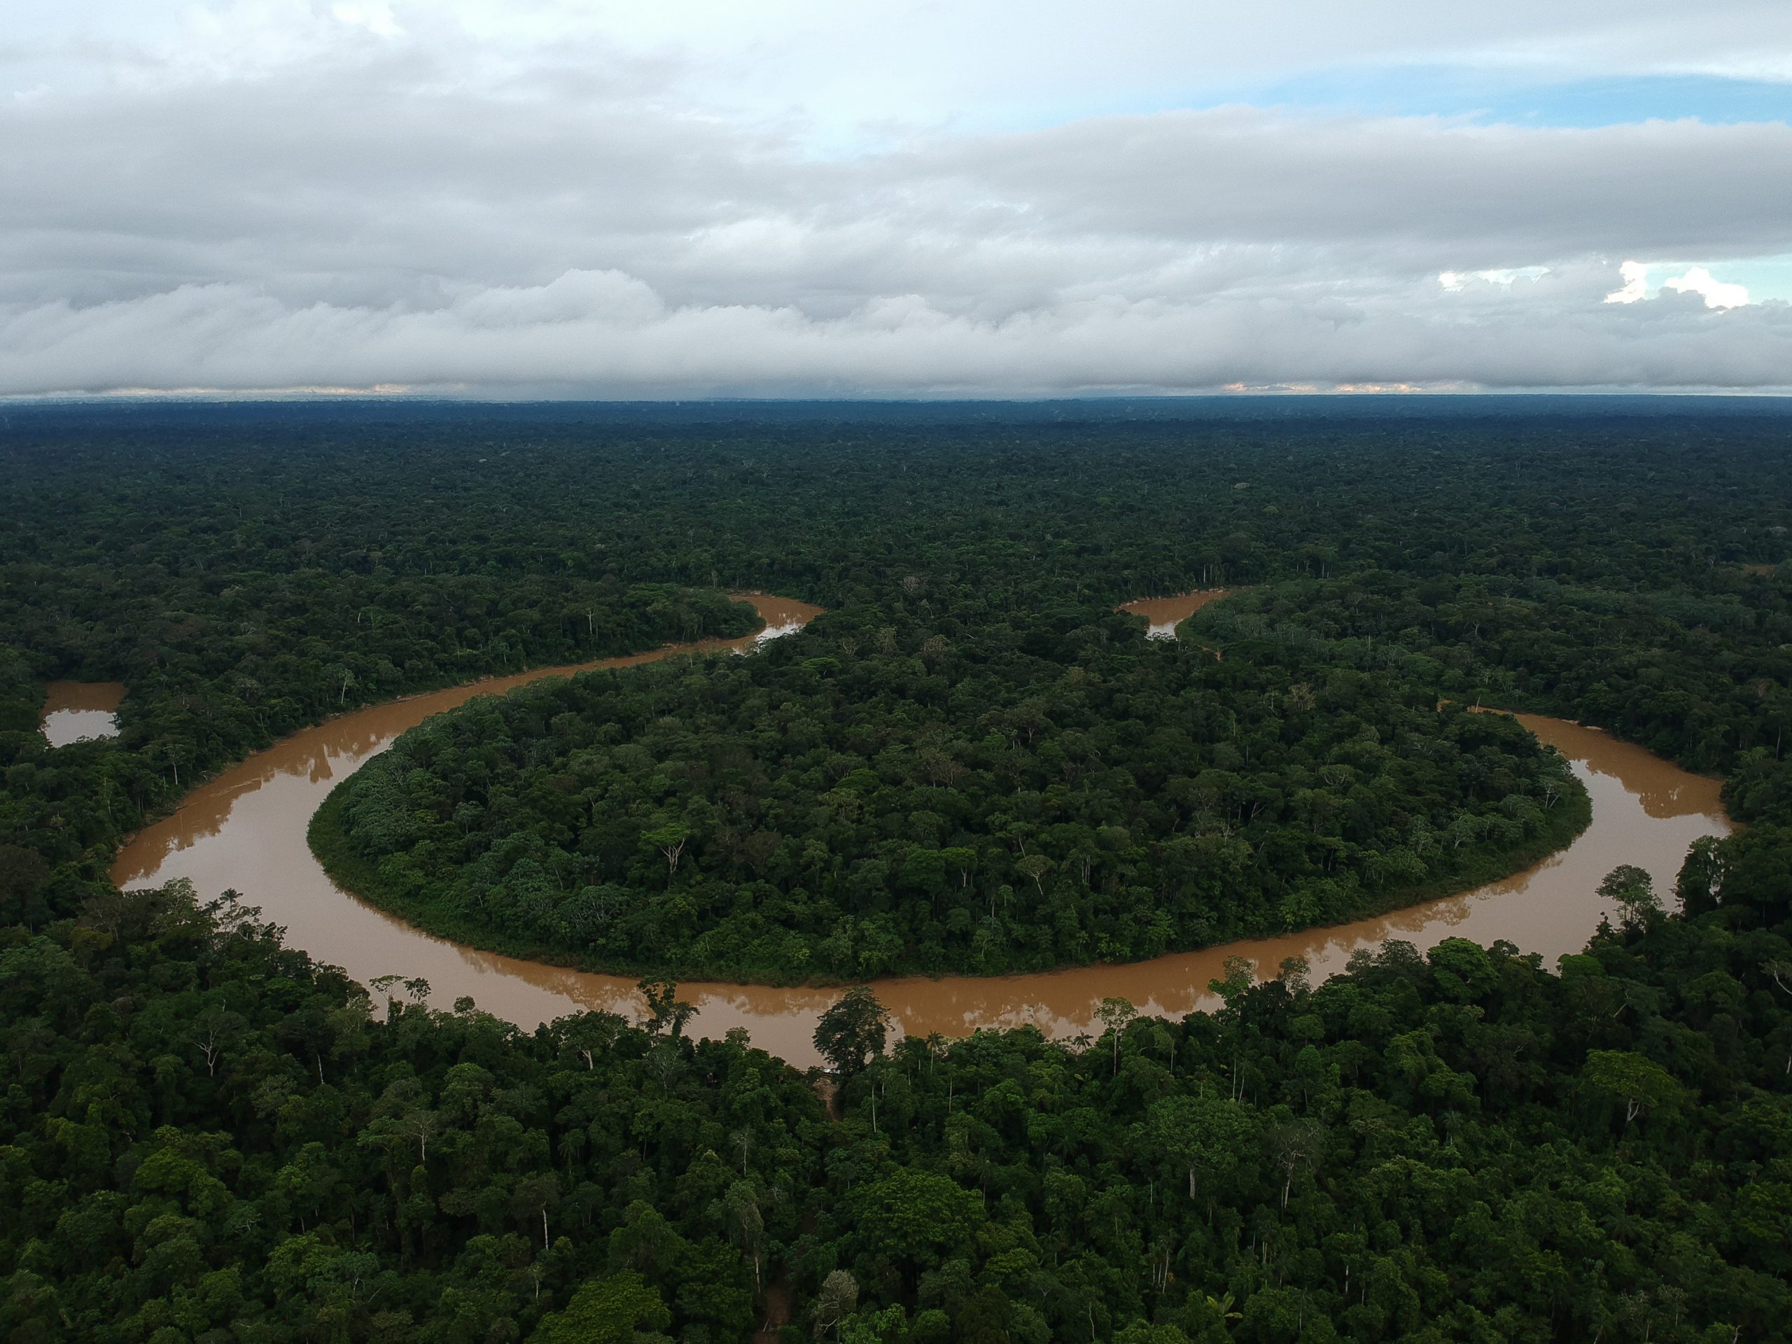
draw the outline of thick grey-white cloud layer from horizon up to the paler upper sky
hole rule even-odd
[[[842,149],[697,100],[688,56],[337,11],[244,73],[0,106],[0,392],[1792,383],[1785,303],[1606,303],[1624,262],[1792,253],[1785,124],[1220,106]]]

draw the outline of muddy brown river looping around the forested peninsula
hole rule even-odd
[[[1177,620],[1213,597],[1217,593],[1163,599],[1143,615],[1154,625],[1168,624],[1174,633]],[[747,600],[767,622],[756,636],[676,645],[582,667],[625,667],[697,649],[744,650],[819,615],[817,607],[801,602]],[[1188,606],[1176,615],[1176,607],[1165,606],[1170,602]],[[378,975],[423,977],[430,982],[432,1002],[446,1007],[470,996],[487,1012],[525,1029],[581,1009],[633,1014],[638,1007],[633,978],[541,966],[423,934],[340,892],[305,842],[305,828],[324,796],[407,728],[473,695],[577,670],[581,667],[536,668],[373,706],[296,733],[195,788],[174,815],[136,835],[118,853],[113,878],[133,887],[192,878],[201,896],[235,887],[247,903],[262,907],[263,918],[285,925],[292,946],[342,966],[362,984]],[[1133,1000],[1143,1012],[1168,1016],[1210,1004],[1208,980],[1220,973],[1228,957],[1249,957],[1265,975],[1274,975],[1285,957],[1305,957],[1321,978],[1340,971],[1357,948],[1373,948],[1391,937],[1419,948],[1446,937],[1469,937],[1478,943],[1507,939],[1554,964],[1555,957],[1579,952],[1606,912],[1595,894],[1606,873],[1618,864],[1636,864],[1654,874],[1658,889],[1672,891],[1686,846],[1729,831],[1715,780],[1688,774],[1598,729],[1532,715],[1520,715],[1520,720],[1573,763],[1593,797],[1593,824],[1566,849],[1505,882],[1378,919],[1129,966],[998,978],[880,980],[878,998],[905,1032],[966,1036],[978,1027],[1036,1023],[1050,1036],[1075,1036],[1091,1030],[1095,1009],[1109,995]],[[699,982],[685,982],[679,989],[681,998],[697,1005],[694,1030],[720,1036],[729,1027],[745,1027],[754,1045],[797,1066],[819,1063],[810,1038],[815,1018],[837,995],[835,989]]]

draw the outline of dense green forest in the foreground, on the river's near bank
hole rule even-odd
[[[1392,944],[1115,1002],[1088,1048],[905,1039],[842,1059],[833,1124],[663,989],[645,1030],[369,1020],[229,903],[95,898],[0,950],[0,1331],[1779,1340],[1788,874],[1785,828],[1706,844],[1688,916],[1631,878],[1561,975]]]

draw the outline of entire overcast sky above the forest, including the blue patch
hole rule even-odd
[[[1792,389],[1787,0],[13,0],[0,394]]]

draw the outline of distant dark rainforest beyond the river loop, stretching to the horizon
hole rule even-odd
[[[1142,595],[1391,573],[1448,616],[1444,694],[1516,704],[1500,659],[1536,642],[1597,694],[1530,704],[1731,772],[1788,715],[1785,588],[1744,568],[1792,557],[1781,410],[1514,407],[14,407],[0,762],[30,769],[0,831],[104,853],[328,713],[742,633],[715,590],[844,613],[910,575],[966,627],[1072,636]],[[1512,586],[1534,625],[1495,645]],[[124,681],[122,740],[48,753],[50,677]]]

